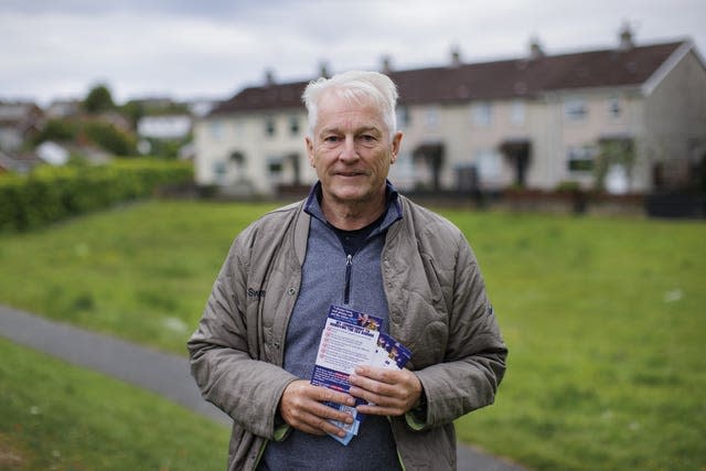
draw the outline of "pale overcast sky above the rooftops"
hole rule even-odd
[[[611,47],[691,38],[706,54],[704,0],[0,0],[0,99],[228,98],[330,72]]]

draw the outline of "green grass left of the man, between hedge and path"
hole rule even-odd
[[[0,236],[0,302],[184,354],[232,239],[266,207],[148,202]]]

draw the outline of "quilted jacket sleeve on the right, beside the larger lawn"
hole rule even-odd
[[[426,396],[421,428],[437,427],[493,403],[505,372],[507,349],[500,334],[478,263],[463,235],[456,238],[449,270],[448,336],[443,360],[417,372]],[[407,421],[418,429],[421,424]],[[415,418],[419,419],[416,414]]]

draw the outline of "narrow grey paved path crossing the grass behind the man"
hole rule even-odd
[[[201,397],[190,374],[185,346],[183,356],[167,354],[2,304],[0,336],[151,390],[223,425],[231,424],[229,417]],[[525,471],[467,445],[457,448],[459,471]]]

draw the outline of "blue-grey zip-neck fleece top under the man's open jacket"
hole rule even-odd
[[[319,184],[310,193],[304,208],[312,216],[309,242],[301,289],[291,313],[285,346],[285,370],[302,379],[311,377],[331,304],[347,306],[379,317],[383,331],[387,330],[381,253],[385,232],[402,217],[402,208],[396,204],[397,193],[388,185],[384,218],[367,235],[364,244],[349,254],[335,228],[325,221],[318,193]],[[258,470],[290,469],[364,471],[400,468],[389,421],[385,417],[367,416],[359,435],[347,446],[329,436],[312,436],[297,429],[291,429],[282,441],[270,441]]]

